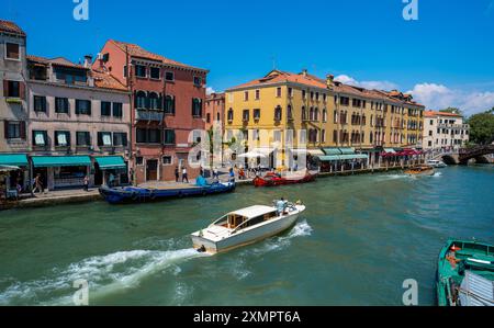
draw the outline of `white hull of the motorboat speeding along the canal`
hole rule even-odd
[[[200,236],[191,235],[192,244],[195,249],[205,249],[205,251],[211,255],[226,252],[239,247],[258,242],[288,230],[296,224],[300,212],[287,217],[268,222],[262,226],[255,227],[250,230],[245,230],[238,235],[232,235],[220,241],[212,241]]]

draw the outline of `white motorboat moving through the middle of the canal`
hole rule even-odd
[[[305,211],[304,205],[288,202],[282,208],[279,205],[255,205],[228,213],[207,228],[193,233],[193,247],[214,255],[254,244],[289,229]]]

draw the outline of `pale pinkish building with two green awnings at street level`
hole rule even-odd
[[[109,71],[65,58],[27,56],[32,177],[45,188],[128,182],[130,92]]]

